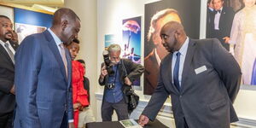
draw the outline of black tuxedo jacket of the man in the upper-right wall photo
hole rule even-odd
[[[225,49],[230,49],[230,44],[224,43],[224,37],[230,37],[230,31],[233,23],[233,19],[235,16],[235,12],[233,9],[229,7],[223,7],[221,11],[221,15],[219,17],[218,28],[219,31],[214,31],[214,19],[215,15],[210,15],[210,32],[207,38],[218,38],[221,44],[224,46]]]

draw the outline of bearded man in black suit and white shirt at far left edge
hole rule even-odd
[[[12,127],[15,109],[15,50],[13,24],[9,17],[0,15],[0,127]]]

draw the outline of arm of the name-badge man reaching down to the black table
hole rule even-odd
[[[150,119],[151,121],[154,121],[157,113],[160,111],[160,108],[162,108],[163,104],[166,102],[166,98],[169,96],[169,93],[166,91],[166,87],[165,87],[165,85],[163,83],[163,80],[162,80],[163,76],[161,75],[161,70],[162,69],[161,69],[161,66],[160,66],[160,76],[159,76],[159,79],[158,79],[157,87],[154,90],[154,94],[151,96],[147,107],[144,108],[144,110],[143,110],[142,116],[139,119],[140,125],[148,124],[148,121],[147,121],[148,119]],[[147,122],[143,122],[144,119]]]

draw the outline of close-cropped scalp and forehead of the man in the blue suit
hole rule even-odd
[[[62,20],[75,21],[80,19],[72,9],[61,8],[55,11],[55,14],[53,15],[52,26],[61,25]]]

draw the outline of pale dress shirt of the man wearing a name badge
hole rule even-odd
[[[183,79],[182,78],[183,66],[184,66],[184,61],[185,61],[186,55],[187,55],[188,47],[189,47],[189,37],[186,38],[183,46],[178,51],[175,51],[172,54],[172,84],[174,84],[174,81],[173,81],[173,70],[174,70],[175,62],[177,60],[177,55],[176,54],[177,54],[177,52],[179,52],[181,55],[180,55],[180,59],[179,59],[178,82],[179,82],[179,85],[181,86],[181,81]]]

